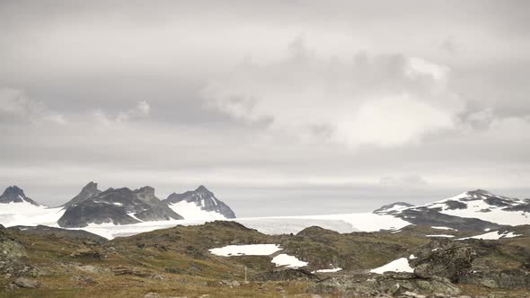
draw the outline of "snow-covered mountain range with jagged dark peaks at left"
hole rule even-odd
[[[89,182],[79,194],[62,206],[40,205],[26,197],[21,188],[6,188],[0,197],[0,223],[13,225],[50,225],[66,228],[133,223],[170,223],[186,220],[234,218],[234,211],[204,186],[167,199],[155,197],[155,188],[98,189]],[[183,216],[185,215],[185,217]]]

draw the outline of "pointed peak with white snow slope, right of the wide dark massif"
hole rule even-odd
[[[163,202],[185,219],[235,218],[234,211],[202,185],[183,194],[172,193]]]

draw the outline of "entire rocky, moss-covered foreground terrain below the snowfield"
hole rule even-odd
[[[234,222],[176,226],[107,241],[46,226],[0,230],[0,296],[530,297],[530,226],[517,237],[409,226],[340,234],[319,227],[270,236]],[[429,235],[429,236],[427,236]],[[270,256],[220,257],[226,245],[271,243]],[[277,267],[279,253],[304,261]],[[370,272],[407,259],[407,272]],[[333,268],[341,268],[341,270]],[[327,272],[326,272],[327,271]]]

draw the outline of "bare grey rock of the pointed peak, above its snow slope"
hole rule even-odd
[[[186,191],[183,194],[173,193],[163,201],[168,205],[179,203],[181,201],[195,203],[204,211],[216,212],[224,215],[226,218],[235,218],[234,211],[232,211],[232,209],[230,209],[230,207],[225,203],[216,198],[213,192],[209,191],[202,185],[195,190]]]

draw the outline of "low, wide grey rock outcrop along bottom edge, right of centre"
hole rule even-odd
[[[382,276],[346,276],[324,280],[308,289],[309,293],[339,297],[380,297],[402,294],[446,294],[454,296],[461,290],[443,277],[419,278],[413,273],[384,273]]]

